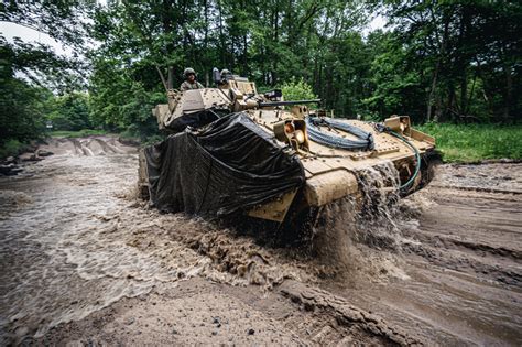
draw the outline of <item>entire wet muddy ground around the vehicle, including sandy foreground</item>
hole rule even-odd
[[[333,206],[336,264],[149,209],[113,138],[45,150],[0,177],[1,345],[522,344],[522,164],[444,165],[367,225]]]

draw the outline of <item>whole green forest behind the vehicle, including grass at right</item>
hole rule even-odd
[[[388,24],[368,32],[376,15]],[[207,86],[218,67],[317,96],[336,117],[409,115],[448,160],[522,158],[519,1],[3,1],[0,21],[72,52],[0,33],[0,156],[51,124],[157,140],[157,69],[177,87],[189,66]]]

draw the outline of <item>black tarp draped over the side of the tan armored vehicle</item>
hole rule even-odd
[[[300,187],[296,154],[244,113],[168,137],[145,149],[150,198],[162,212],[228,215]]]

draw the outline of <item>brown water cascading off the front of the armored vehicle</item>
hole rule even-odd
[[[387,162],[357,175],[360,194],[328,204],[320,212],[314,248],[325,263],[337,269],[337,276],[352,282],[406,278],[398,257],[403,239],[399,172]]]

